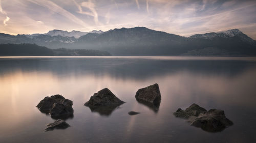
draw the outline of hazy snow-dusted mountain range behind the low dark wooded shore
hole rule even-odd
[[[0,43],[35,43],[48,48],[94,49],[113,55],[255,56],[256,41],[238,29],[183,37],[146,27],[115,28],[106,32],[60,31],[46,34],[0,34]]]

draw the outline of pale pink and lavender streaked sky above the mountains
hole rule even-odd
[[[144,26],[191,36],[238,28],[256,40],[254,0],[0,0],[0,33]]]

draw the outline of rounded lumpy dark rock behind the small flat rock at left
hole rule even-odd
[[[37,108],[46,114],[50,114],[53,119],[68,119],[73,117],[73,102],[65,99],[61,95],[45,97],[37,104]]]

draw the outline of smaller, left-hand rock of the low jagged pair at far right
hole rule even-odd
[[[179,108],[176,112],[174,112],[174,115],[179,118],[185,118],[188,119],[190,116],[196,116],[198,117],[200,113],[205,113],[207,110],[200,107],[197,104],[192,104],[185,110],[182,110]]]

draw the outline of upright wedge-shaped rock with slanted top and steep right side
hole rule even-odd
[[[146,88],[139,89],[136,92],[135,97],[136,99],[151,103],[161,102],[161,94],[157,83],[150,85]]]

